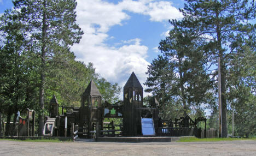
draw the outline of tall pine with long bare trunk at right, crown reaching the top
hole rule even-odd
[[[249,20],[255,18],[254,1],[237,0],[187,0],[188,4],[181,9],[183,20],[172,21],[174,25],[182,25],[197,31],[200,38],[207,39],[204,43],[207,60],[215,64],[220,58],[221,100],[222,100],[222,136],[226,137],[226,73],[230,56],[241,53],[237,49],[245,43],[246,32],[253,26]],[[210,50],[211,49],[211,50]]]

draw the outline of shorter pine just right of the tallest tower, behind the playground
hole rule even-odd
[[[206,102],[211,81],[205,71],[203,51],[196,33],[174,27],[165,40],[161,40],[159,56],[148,67],[146,91],[153,91],[161,102],[182,105],[183,115],[190,107]]]

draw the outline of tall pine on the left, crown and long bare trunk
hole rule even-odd
[[[44,124],[44,89],[49,60],[57,53],[69,52],[70,46],[79,43],[83,32],[75,23],[75,0],[15,0],[14,9],[30,34],[30,49],[40,57],[39,136]]]

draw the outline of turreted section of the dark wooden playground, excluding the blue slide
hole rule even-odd
[[[100,135],[114,135],[115,131],[119,131],[123,136],[142,135],[141,118],[152,118],[154,128],[158,125],[158,102],[156,99],[152,101],[151,107],[143,106],[143,88],[134,73],[124,86],[124,101],[115,104],[103,101],[101,93],[91,80],[82,94],[80,107],[62,107],[62,114],[59,115],[59,104],[53,96],[49,106],[49,117],[45,118],[43,135],[71,136],[72,124],[78,125],[79,137],[91,138],[96,133],[96,125],[101,130]],[[123,118],[123,124],[103,123],[104,118]],[[114,129],[117,126],[119,130]]]

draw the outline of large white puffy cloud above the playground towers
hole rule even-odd
[[[124,0],[118,4],[78,0],[76,11],[77,22],[84,31],[80,43],[72,47],[77,59],[92,62],[97,73],[110,82],[118,82],[121,87],[132,71],[141,83],[146,81],[148,47],[138,38],[120,41],[119,47],[109,46],[105,41],[115,38],[109,37],[109,29],[131,18],[125,11],[148,15],[150,21],[157,22],[182,16],[170,2],[153,0]]]

